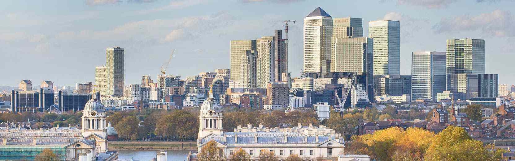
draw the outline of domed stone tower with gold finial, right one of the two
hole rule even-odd
[[[209,96],[201,105],[199,114],[200,125],[198,127],[198,137],[202,138],[209,134],[221,136],[224,133],[222,121],[224,114],[222,106],[213,98],[213,88],[209,91]]]

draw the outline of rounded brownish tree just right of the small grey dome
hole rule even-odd
[[[118,137],[126,140],[136,140],[138,138],[138,123],[140,120],[134,116],[125,117],[114,128],[118,131]]]

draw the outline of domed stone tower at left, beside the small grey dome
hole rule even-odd
[[[81,131],[85,139],[95,140],[96,153],[107,151],[106,117],[106,108],[93,94],[82,111]]]

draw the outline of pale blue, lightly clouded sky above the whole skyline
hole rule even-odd
[[[230,41],[256,39],[289,24],[288,70],[302,68],[303,18],[321,7],[334,17],[401,22],[401,74],[411,52],[445,51],[446,39],[485,39],[486,73],[515,84],[515,1],[502,0],[85,0],[0,2],[0,85],[94,82],[106,48],[125,49],[125,84],[167,74],[194,76],[230,66]]]

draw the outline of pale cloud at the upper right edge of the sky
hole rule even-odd
[[[485,35],[514,37],[513,25],[515,25],[515,19],[510,11],[495,10],[475,16],[460,15],[453,18],[442,18],[433,28],[436,33],[480,31]]]

